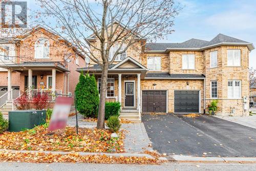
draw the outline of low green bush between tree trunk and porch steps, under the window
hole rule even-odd
[[[105,119],[108,120],[111,116],[119,116],[121,110],[120,102],[106,102],[105,103]]]

